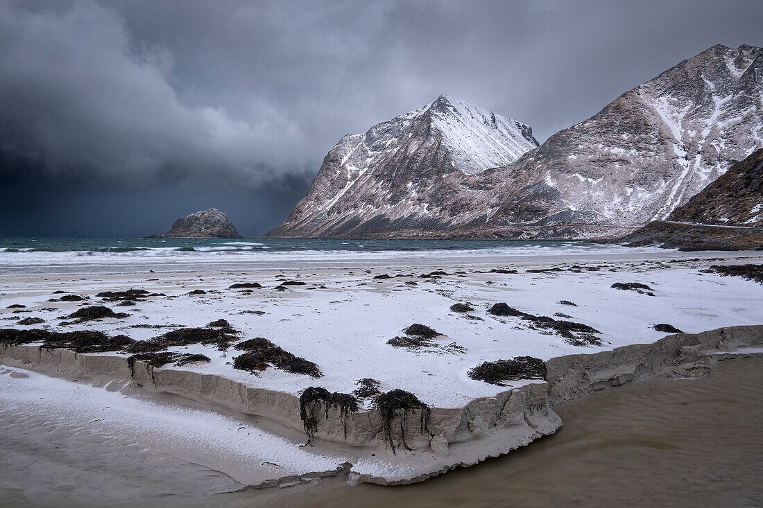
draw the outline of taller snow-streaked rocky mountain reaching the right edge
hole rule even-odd
[[[594,224],[667,217],[763,146],[761,88],[761,48],[718,45],[684,60],[499,169],[514,185],[494,223],[566,224],[585,237]],[[523,220],[517,205],[533,198],[521,190],[538,182],[557,197]]]

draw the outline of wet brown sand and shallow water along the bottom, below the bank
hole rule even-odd
[[[0,494],[5,506],[763,505],[763,358],[721,362],[705,378],[613,388],[556,410],[565,424],[553,436],[421,484],[353,486],[337,478],[229,494],[209,494],[227,483],[214,471],[189,474],[192,465],[158,458],[152,466],[145,461],[150,452],[140,447],[108,445],[119,457],[101,460],[57,445],[24,450],[37,437],[24,438],[19,428],[9,440],[6,426],[0,477],[15,483],[8,489],[0,481]],[[91,451],[103,446],[86,433],[76,444]],[[21,474],[14,447],[46,461],[45,474]],[[85,480],[86,487],[72,487]],[[21,492],[24,481],[32,502]],[[111,502],[104,492],[114,496]]]

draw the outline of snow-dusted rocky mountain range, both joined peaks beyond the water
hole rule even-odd
[[[761,88],[761,48],[714,46],[534,150],[530,127],[440,97],[343,137],[269,235],[620,236],[763,146]]]

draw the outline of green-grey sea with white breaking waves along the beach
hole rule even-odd
[[[155,239],[0,238],[0,274],[50,272],[192,271],[336,265],[346,262],[403,265],[437,262],[533,260],[555,256],[601,256],[654,252],[620,245],[509,240],[327,240],[327,239]],[[662,250],[662,252],[665,252]]]

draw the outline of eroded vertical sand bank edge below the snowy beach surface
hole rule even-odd
[[[381,417],[375,410],[351,413],[343,420],[340,410],[330,408],[327,417],[320,420],[314,435],[316,448],[311,451],[348,458],[353,464],[349,475],[356,481],[389,485],[423,481],[503,455],[555,432],[562,424],[552,410],[555,404],[645,378],[703,375],[714,360],[728,357],[731,352],[763,354],[763,349],[751,347],[761,344],[763,325],[732,326],[697,334],[679,333],[651,344],[551,358],[546,362],[547,383],[528,381],[494,397],[476,398],[461,408],[432,407],[428,432],[422,431],[420,414],[416,412],[402,421],[395,417],[388,436],[382,432]],[[248,386],[221,375],[150,368],[139,361],[130,365],[120,355],[76,354],[28,345],[4,346],[0,359],[8,365],[23,364],[56,376],[124,381],[147,391],[256,416],[268,422],[269,431],[292,439],[303,430],[297,396]],[[343,474],[347,469],[316,471],[321,472]],[[270,487],[292,480],[301,481],[275,476],[263,478],[256,486]]]

